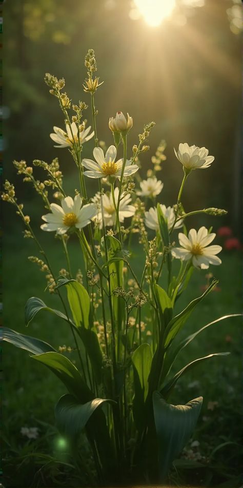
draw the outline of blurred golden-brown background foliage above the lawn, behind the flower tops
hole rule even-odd
[[[185,206],[226,208],[229,215],[221,224],[237,231],[240,8],[240,0],[176,0],[173,14],[151,27],[131,0],[6,0],[5,176],[15,182],[13,159],[30,164],[57,155],[64,173],[74,179],[70,155],[53,148],[49,138],[53,125],[63,127],[63,120],[43,78],[45,72],[64,76],[73,102],[89,103],[82,86],[84,56],[93,48],[105,81],[96,97],[98,137],[112,144],[108,118],[128,111],[134,120],[131,148],[143,125],[154,120],[141,174],[146,176],[159,141],[166,139],[167,161],[158,176],[166,182],[162,198],[167,205],[175,201],[181,179],[173,147],[184,141],[207,147],[215,162],[209,171],[191,176]],[[89,109],[85,116],[89,125]],[[84,154],[90,157],[91,149],[92,142]],[[33,198],[29,187],[19,192]]]

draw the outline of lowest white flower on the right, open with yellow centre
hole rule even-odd
[[[215,236],[214,233],[208,234],[206,227],[201,227],[198,232],[191,229],[188,237],[179,233],[181,248],[173,248],[172,255],[185,261],[192,259],[193,266],[202,270],[207,270],[209,265],[220,265],[221,259],[215,254],[222,250],[221,246],[209,246]]]

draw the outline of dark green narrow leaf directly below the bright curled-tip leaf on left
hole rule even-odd
[[[82,339],[89,356],[95,379],[97,383],[100,384],[102,382],[103,356],[97,334],[95,331],[84,328],[79,328],[78,334]]]

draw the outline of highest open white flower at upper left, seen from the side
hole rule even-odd
[[[77,135],[78,129],[75,122],[72,122],[71,128],[72,131],[69,125],[66,124],[66,132],[65,132],[63,131],[63,129],[59,129],[59,127],[53,127],[55,134],[54,133],[50,134],[50,138],[54,140],[55,143],[57,143],[57,146],[54,146],[54,148],[72,147],[74,142],[78,143],[78,135]],[[87,127],[87,129],[79,132],[80,145],[86,143],[87,140],[90,140],[93,137],[94,132],[91,132],[91,134],[89,134],[90,129],[91,127]]]

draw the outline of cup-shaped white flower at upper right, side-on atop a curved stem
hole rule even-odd
[[[177,159],[188,170],[208,168],[214,160],[214,156],[208,156],[208,149],[188,146],[187,143],[180,143],[178,151],[174,151]]]

